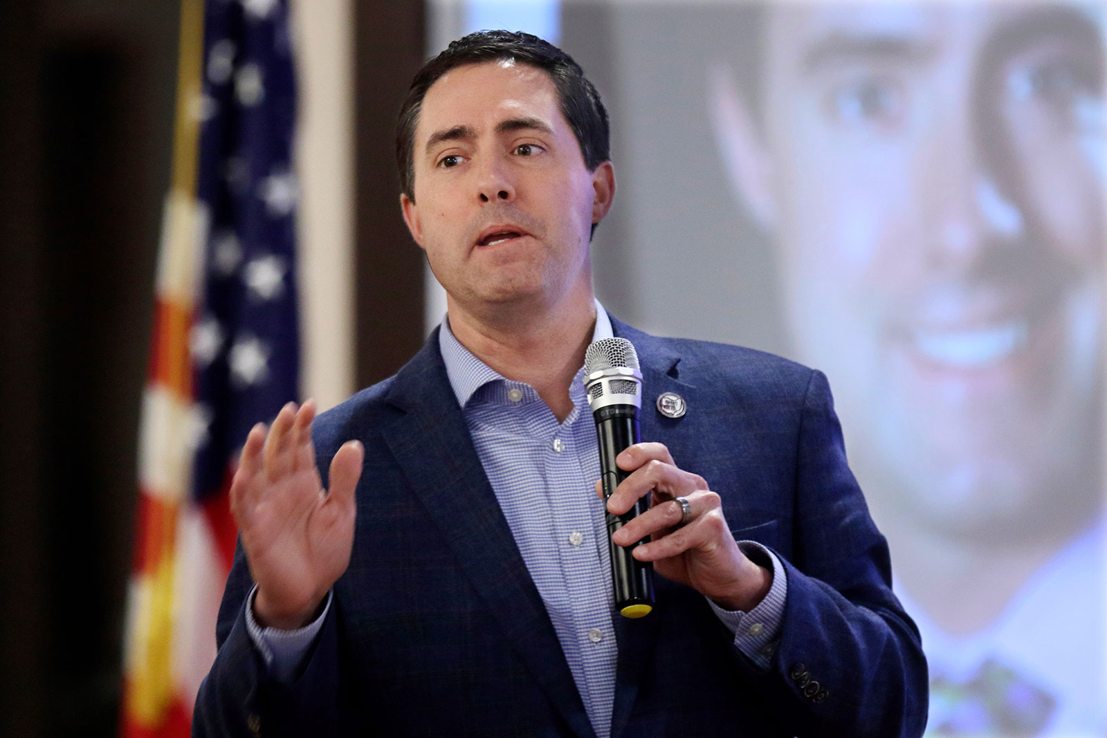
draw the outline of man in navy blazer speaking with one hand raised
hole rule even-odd
[[[416,75],[397,128],[447,319],[318,422],[309,401],[250,432],[195,734],[920,735],[925,661],[826,378],[596,301],[615,178],[580,67],[472,34]],[[637,350],[644,443],[604,502],[582,380],[612,336]],[[604,505],[643,499],[613,537],[655,572],[629,619]]]

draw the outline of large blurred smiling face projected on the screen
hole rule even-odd
[[[1095,499],[1099,29],[1061,6],[814,4],[767,37],[788,320],[878,512],[1007,536]]]

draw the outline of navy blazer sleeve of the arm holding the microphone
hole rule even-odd
[[[888,544],[846,461],[826,376],[813,372],[797,434],[787,599],[759,684],[797,736],[921,736],[927,662],[891,591]],[[752,667],[751,667],[752,668]]]

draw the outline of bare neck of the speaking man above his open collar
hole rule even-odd
[[[504,305],[474,314],[448,301],[449,330],[474,356],[515,382],[529,384],[558,423],[572,412],[569,385],[584,363],[596,326],[591,289],[556,309]]]

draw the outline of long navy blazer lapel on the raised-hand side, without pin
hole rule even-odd
[[[469,582],[578,736],[594,736],[557,633],[519,554],[446,376],[437,333],[395,377],[406,415],[383,435]]]

